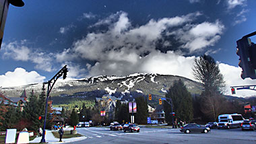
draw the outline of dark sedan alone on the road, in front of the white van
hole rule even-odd
[[[184,127],[180,129],[183,133],[191,133],[191,132],[200,132],[200,133],[208,133],[211,131],[209,127],[204,127],[196,123],[186,124]]]

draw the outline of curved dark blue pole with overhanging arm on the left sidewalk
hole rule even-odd
[[[59,79],[59,77],[63,76],[63,79],[67,77],[67,65],[65,65],[59,72],[50,80],[45,82],[44,84],[48,84],[47,94],[46,94],[46,104],[45,104],[45,112],[44,112],[44,129],[42,130],[42,139],[40,143],[46,143],[45,141],[45,125],[46,125],[46,116],[47,116],[47,107],[48,107],[48,98],[51,90],[53,89],[53,85]]]

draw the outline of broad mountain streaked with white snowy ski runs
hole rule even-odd
[[[172,83],[181,79],[192,96],[201,93],[203,87],[201,83],[192,81],[185,77],[174,75],[159,75],[148,73],[135,73],[124,77],[117,76],[98,76],[88,79],[58,81],[55,83],[51,97],[61,98],[84,98],[94,100],[95,97],[101,97],[104,94],[110,94],[117,97],[136,97],[136,96],[165,96]],[[45,85],[47,88],[47,85]],[[5,87],[1,92],[8,97],[20,97],[23,90],[26,89],[27,96],[30,96],[32,89],[34,94],[40,94],[42,83],[24,85],[19,87]]]

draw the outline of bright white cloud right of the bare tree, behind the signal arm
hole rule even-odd
[[[239,86],[239,85],[255,85],[256,79],[242,79],[240,67],[234,67],[224,63],[220,63],[220,72],[224,75],[224,80],[226,81],[226,92],[231,96],[230,86]],[[236,90],[236,94],[233,96],[245,97],[245,96],[256,96],[255,91],[249,89]]]

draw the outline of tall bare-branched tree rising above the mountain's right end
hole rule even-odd
[[[221,114],[224,109],[221,91],[225,86],[218,64],[212,57],[203,55],[199,59],[195,59],[193,74],[204,87],[200,96],[200,110],[203,112],[203,117],[208,120],[216,120],[218,114]]]

